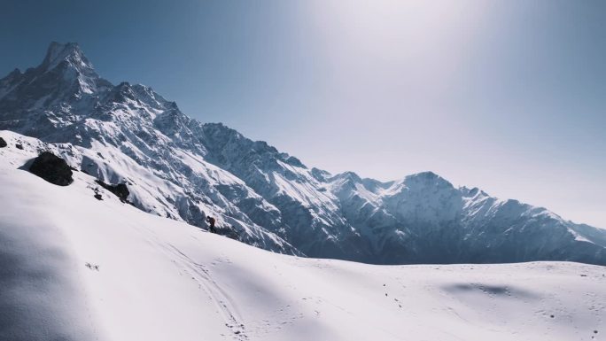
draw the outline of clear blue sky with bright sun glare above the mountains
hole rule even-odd
[[[455,185],[606,228],[606,2],[0,0],[0,74],[97,72],[308,167]]]

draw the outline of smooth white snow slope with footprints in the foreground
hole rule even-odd
[[[7,133],[3,132],[3,136]],[[12,147],[15,138],[23,150]],[[0,149],[2,340],[597,340],[606,268],[286,256],[144,213]],[[46,148],[57,151],[56,146]],[[96,269],[98,267],[98,269]]]

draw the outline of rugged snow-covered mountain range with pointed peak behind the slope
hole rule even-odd
[[[13,144],[51,148],[93,177],[126,183],[145,212],[198,227],[213,215],[221,233],[274,252],[378,264],[606,265],[606,230],[431,172],[378,182],[308,168],[190,119],[149,87],[113,85],[75,43],[51,43],[40,66],[0,80],[0,129]]]

